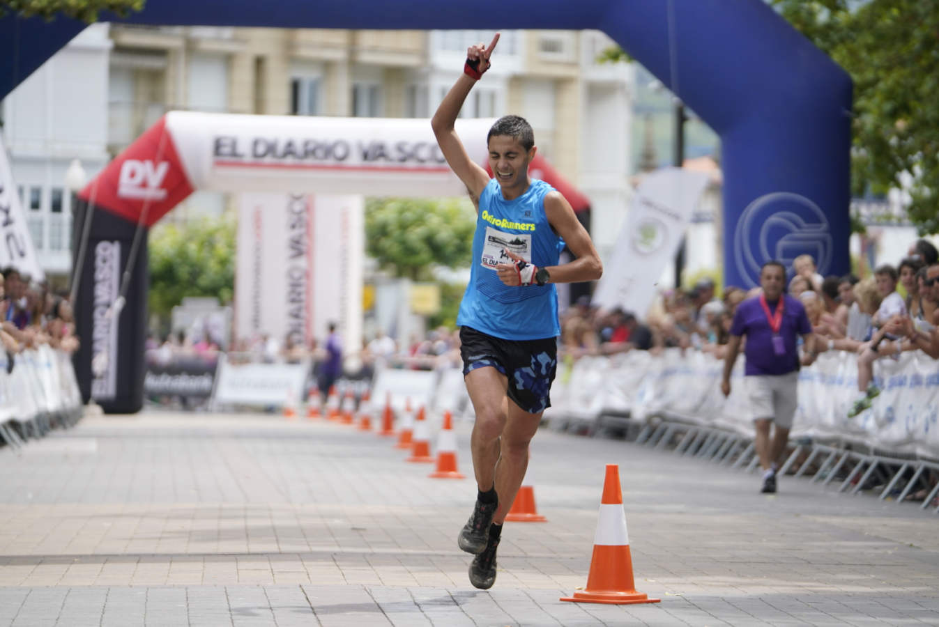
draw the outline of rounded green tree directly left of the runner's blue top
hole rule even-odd
[[[365,250],[379,268],[412,281],[433,280],[433,268],[469,265],[473,208],[468,200],[369,198]]]

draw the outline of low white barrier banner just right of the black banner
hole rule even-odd
[[[212,401],[276,407],[300,403],[309,373],[309,362],[233,364],[220,358]]]

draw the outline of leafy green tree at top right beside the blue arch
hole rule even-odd
[[[939,232],[939,8],[922,0],[772,0],[854,80],[852,191],[912,176],[910,220]]]

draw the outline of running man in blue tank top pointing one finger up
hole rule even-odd
[[[469,581],[480,589],[496,580],[502,522],[525,477],[531,437],[551,405],[561,334],[551,283],[593,281],[603,272],[590,235],[561,193],[529,176],[537,149],[528,122],[506,115],[489,130],[491,180],[456,135],[456,116],[489,69],[498,41],[497,33],[488,47],[469,48],[464,73],[431,121],[447,163],[479,199],[469,285],[456,324],[476,412],[471,448],[479,489],[458,544],[476,556]],[[563,242],[577,258],[559,266]]]

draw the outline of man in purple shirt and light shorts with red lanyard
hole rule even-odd
[[[760,270],[762,294],[740,303],[733,315],[731,339],[724,360],[724,378],[720,389],[731,393],[731,372],[747,336],[747,395],[753,409],[756,437],[753,448],[763,469],[762,490],[776,492],[777,461],[789,441],[795,409],[798,406],[799,352],[797,336],[805,339],[806,354],[802,364],[811,363],[818,350],[806,310],[797,299],[782,293],[786,268],[778,261],[767,261]],[[770,440],[770,425],[776,431]]]

